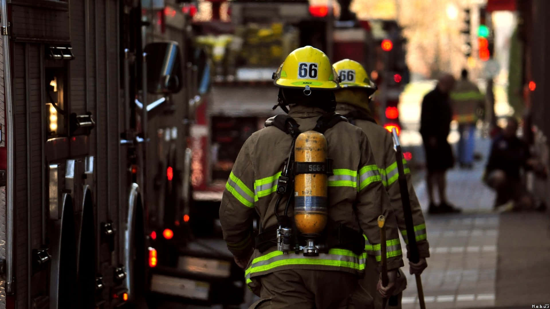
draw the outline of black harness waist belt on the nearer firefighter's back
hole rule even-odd
[[[268,227],[263,230],[262,233],[255,237],[255,248],[261,253],[267,251],[271,247],[277,246],[277,229],[278,225]],[[294,234],[298,234],[297,230],[293,229]],[[328,228],[324,235],[320,235],[321,243],[324,239],[324,248],[320,249],[321,252],[328,252],[332,248],[340,248],[350,250],[356,255],[361,255],[365,250],[365,238],[362,233],[348,228],[343,224],[333,225],[332,228]],[[295,238],[293,246],[305,245],[305,239],[300,236]]]

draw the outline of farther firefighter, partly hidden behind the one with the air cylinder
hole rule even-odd
[[[359,126],[368,137],[368,141],[371,143],[373,156],[378,164],[378,170],[382,177],[382,184],[388,191],[393,212],[399,230],[403,235],[403,239],[407,240],[406,225],[403,213],[403,205],[401,202],[401,192],[399,189],[397,162],[395,162],[395,151],[393,148],[392,135],[384,129],[381,125],[378,125],[372,118],[371,111],[368,108],[368,103],[371,100],[371,95],[376,91],[376,85],[368,78],[366,70],[362,65],[354,60],[344,59],[340,60],[333,65],[334,69],[342,78],[340,83],[340,89],[336,91],[337,113],[344,115],[348,118],[349,122]],[[403,167],[408,180],[409,186],[409,198],[412,211],[412,221],[414,223],[414,230],[416,233],[416,241],[420,253],[419,263],[410,264],[410,272],[422,273],[427,267],[426,258],[430,256],[429,245],[426,234],[426,224],[422,215],[422,209],[420,203],[416,197],[414,187],[412,187],[412,181],[410,179],[410,169],[406,167],[406,160],[403,158]],[[369,244],[369,239],[365,236],[367,252],[372,250],[372,245]],[[399,271],[399,278],[397,280],[397,289],[394,291],[394,295],[398,297],[398,307],[401,307],[401,292],[406,287],[406,279],[403,272]],[[382,296],[376,293],[376,285],[378,280],[379,271],[376,268],[376,264],[368,263],[365,271],[364,279],[360,280],[360,285],[369,294],[372,295],[375,301],[375,308],[382,308]]]

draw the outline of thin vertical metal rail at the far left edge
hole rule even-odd
[[[13,284],[13,192],[14,192],[14,133],[13,133],[13,107],[12,107],[12,75],[11,75],[11,62],[9,58],[9,37],[8,37],[8,8],[6,6],[6,0],[0,0],[0,19],[2,23],[2,43],[4,46],[4,82],[5,82],[5,114],[6,114],[6,146],[8,147],[8,179],[7,179],[7,218],[6,218],[6,282],[5,293],[14,294],[15,286]]]

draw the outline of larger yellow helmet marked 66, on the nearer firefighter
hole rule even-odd
[[[273,73],[278,87],[304,89],[338,89],[338,75],[327,55],[315,47],[294,49]]]

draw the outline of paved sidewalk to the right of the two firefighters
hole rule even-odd
[[[431,257],[422,273],[426,308],[531,308],[550,302],[548,215],[492,212],[494,193],[481,182],[490,144],[476,141],[483,159],[474,169],[447,174],[448,199],[463,213],[427,214],[425,181],[415,185],[430,242]],[[408,281],[403,308],[420,308],[407,262],[403,271]]]

